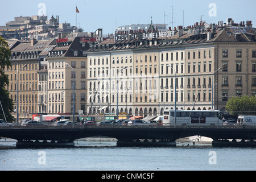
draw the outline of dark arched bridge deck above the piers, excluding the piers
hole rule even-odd
[[[73,142],[86,137],[111,137],[118,140],[176,139],[200,135],[217,139],[256,139],[256,129],[203,129],[203,128],[88,128],[88,129],[1,129],[0,136],[22,140],[55,140]]]

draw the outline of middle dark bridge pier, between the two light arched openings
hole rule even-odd
[[[168,139],[118,139],[118,147],[176,147],[176,142]]]

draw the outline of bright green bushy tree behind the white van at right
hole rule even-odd
[[[242,96],[232,97],[226,103],[226,110],[230,114],[256,114],[256,97]]]

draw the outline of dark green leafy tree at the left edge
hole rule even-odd
[[[10,114],[14,111],[13,100],[9,98],[9,92],[6,89],[6,86],[9,85],[9,78],[5,74],[5,69],[11,67],[10,56],[11,51],[8,43],[0,36],[0,101],[2,102],[7,122],[14,121],[14,117]],[[0,119],[5,119],[3,111],[0,108]]]

